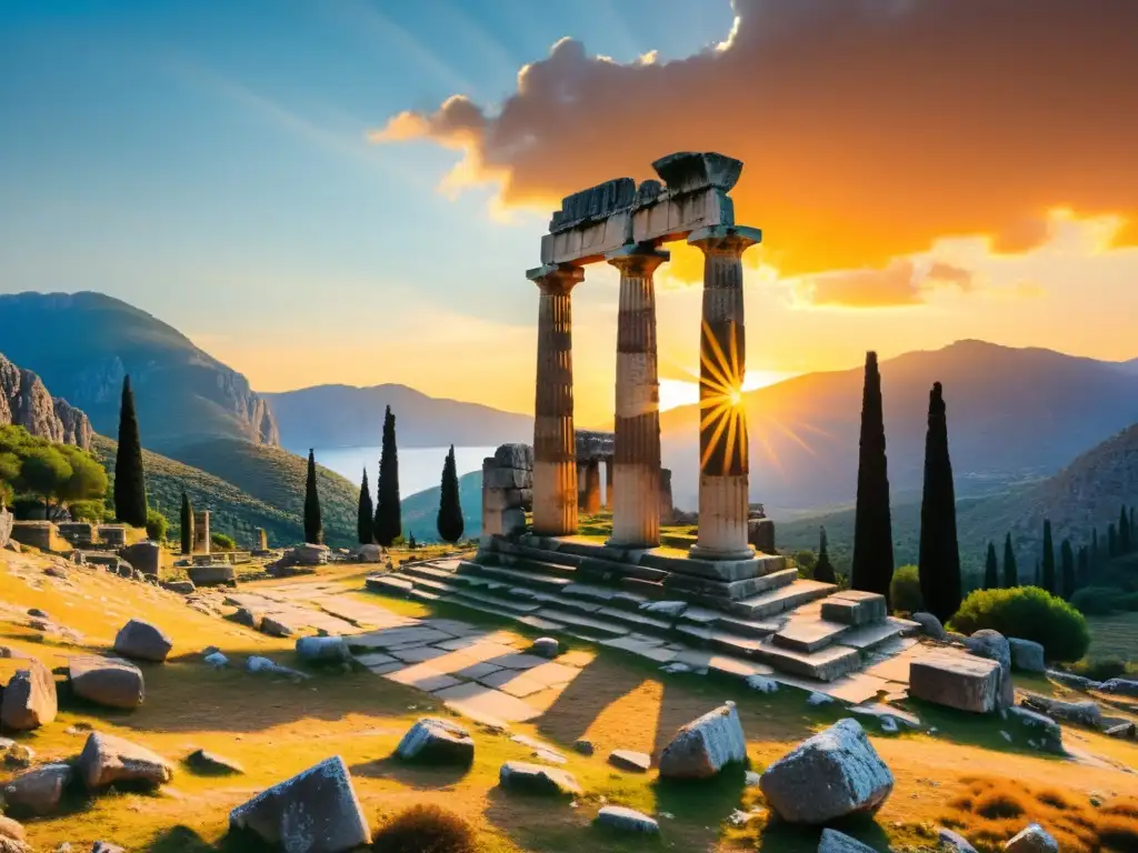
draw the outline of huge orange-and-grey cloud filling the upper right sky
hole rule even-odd
[[[500,109],[455,96],[372,139],[459,150],[450,191],[490,182],[498,204],[546,212],[612,177],[652,177],[670,151],[718,150],[745,164],[736,218],[764,229],[766,263],[787,276],[883,270],[901,293],[893,258],[974,234],[1024,251],[1057,206],[1123,217],[1112,245],[1138,245],[1138,2],[733,6],[714,49],[621,64],[563,39]],[[691,278],[695,262],[673,266]]]

